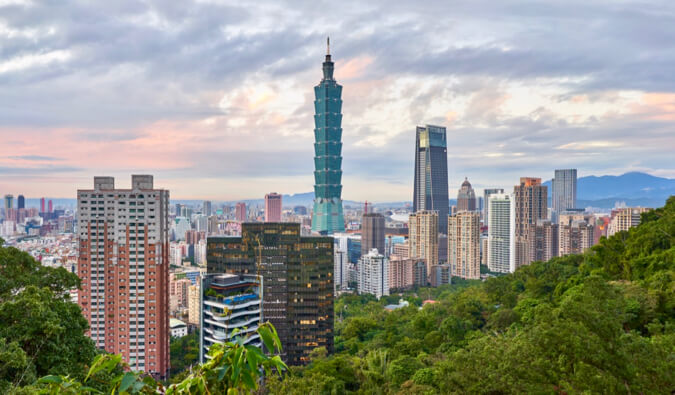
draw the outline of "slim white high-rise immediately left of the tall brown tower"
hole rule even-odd
[[[488,269],[509,273],[515,264],[515,203],[513,195],[492,194],[488,200]]]

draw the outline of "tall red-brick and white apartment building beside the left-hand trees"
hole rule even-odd
[[[130,189],[94,177],[77,191],[78,303],[89,336],[121,354],[132,369],[169,373],[169,191],[150,175],[132,175]]]

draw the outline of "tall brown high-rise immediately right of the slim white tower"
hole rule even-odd
[[[515,264],[516,269],[528,265],[531,254],[529,231],[537,221],[548,218],[548,188],[541,178],[521,177],[520,184],[513,187],[515,204]]]

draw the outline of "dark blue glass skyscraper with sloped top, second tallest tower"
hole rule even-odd
[[[418,126],[413,212],[438,211],[438,232],[448,233],[448,145],[442,126]]]

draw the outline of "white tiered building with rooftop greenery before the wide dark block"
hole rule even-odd
[[[242,338],[243,343],[262,347],[256,332],[263,322],[264,280],[256,275],[209,273],[201,277],[199,361],[206,362],[209,349]],[[235,332],[236,331],[236,332]]]

